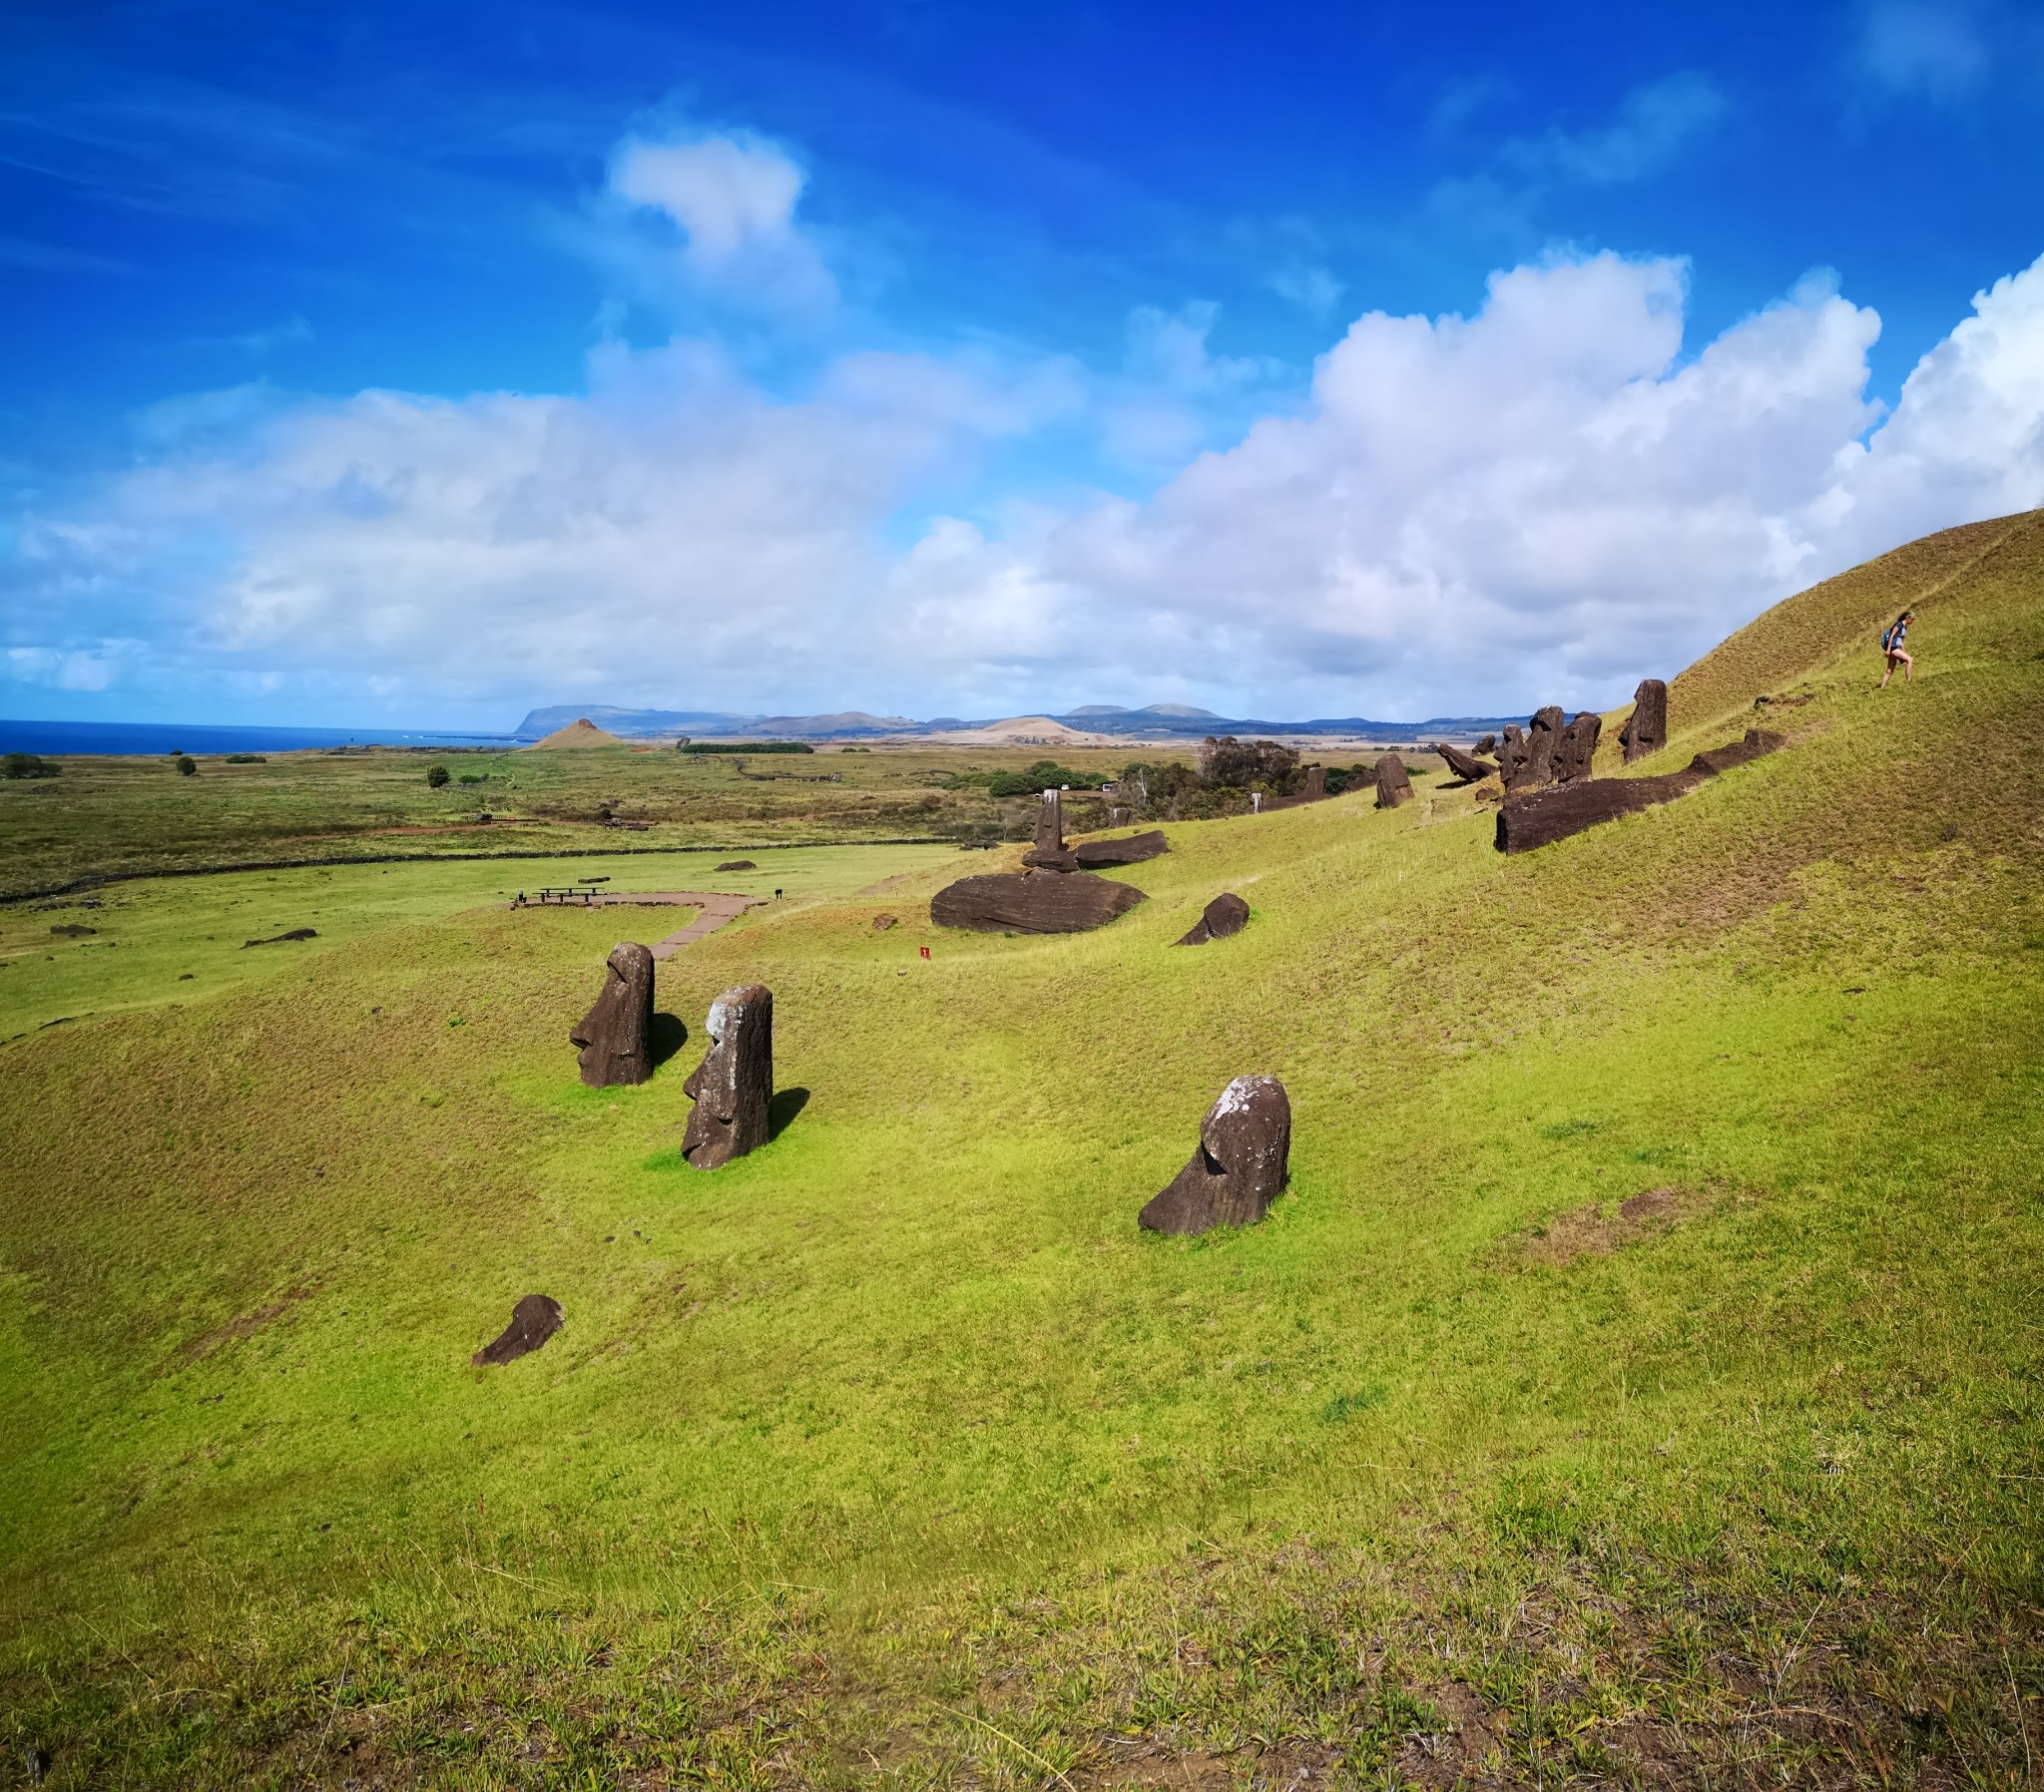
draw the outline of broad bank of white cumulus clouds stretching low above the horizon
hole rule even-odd
[[[213,427],[22,519],[6,646],[47,672],[141,635],[194,678],[382,689],[419,719],[1605,705],[1868,554],[2044,503],[2044,260],[1883,417],[1878,319],[1829,278],[1690,345],[1682,264],[1611,253],[1500,272],[1468,317],[1357,319],[1286,415],[1149,497],[961,501],[1004,443],[1112,429],[1116,382],[1261,390],[1210,323],[1139,317],[1091,390],[856,353],[775,400],[683,341],[605,347],[572,396],[192,407]]]

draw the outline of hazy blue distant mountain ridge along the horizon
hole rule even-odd
[[[1032,711],[1034,713],[1034,711]],[[836,715],[734,715],[719,709],[615,709],[607,703],[552,703],[533,709],[513,729],[517,740],[540,740],[574,721],[591,721],[623,740],[664,740],[689,734],[707,740],[916,740],[930,734],[961,734],[975,727],[995,727],[1012,717],[967,719],[938,715],[912,721],[905,715],[871,715],[865,709],[844,709]],[[1255,717],[1214,715],[1190,703],[1151,703],[1147,709],[1124,709],[1118,703],[1087,703],[1063,715],[1044,711],[1047,721],[1087,734],[1143,738],[1204,740],[1210,734],[1357,734],[1372,740],[1459,740],[1492,734],[1523,715],[1433,715],[1427,721],[1378,721],[1367,715],[1335,715],[1314,721],[1259,721]]]

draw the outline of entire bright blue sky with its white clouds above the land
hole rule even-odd
[[[0,33],[0,713],[1613,703],[2044,501],[2034,4]]]

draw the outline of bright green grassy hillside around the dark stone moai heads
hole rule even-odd
[[[2034,1782],[2044,515],[1782,605],[1639,770],[1756,697],[1521,858],[1435,785],[1173,823],[1077,938],[840,848],[662,962],[640,1089],[564,1042],[617,913],[501,864],[8,909],[6,1032],[90,1016],[0,1054],[0,1774]],[[801,1095],[701,1175],[754,979]],[[1247,1071],[1288,1193],[1139,1234]]]

